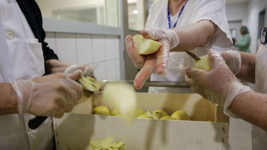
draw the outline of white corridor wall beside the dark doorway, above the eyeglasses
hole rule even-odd
[[[250,48],[256,52],[258,34],[259,34],[259,12],[267,7],[266,0],[251,0],[248,8],[248,30],[251,35]]]

